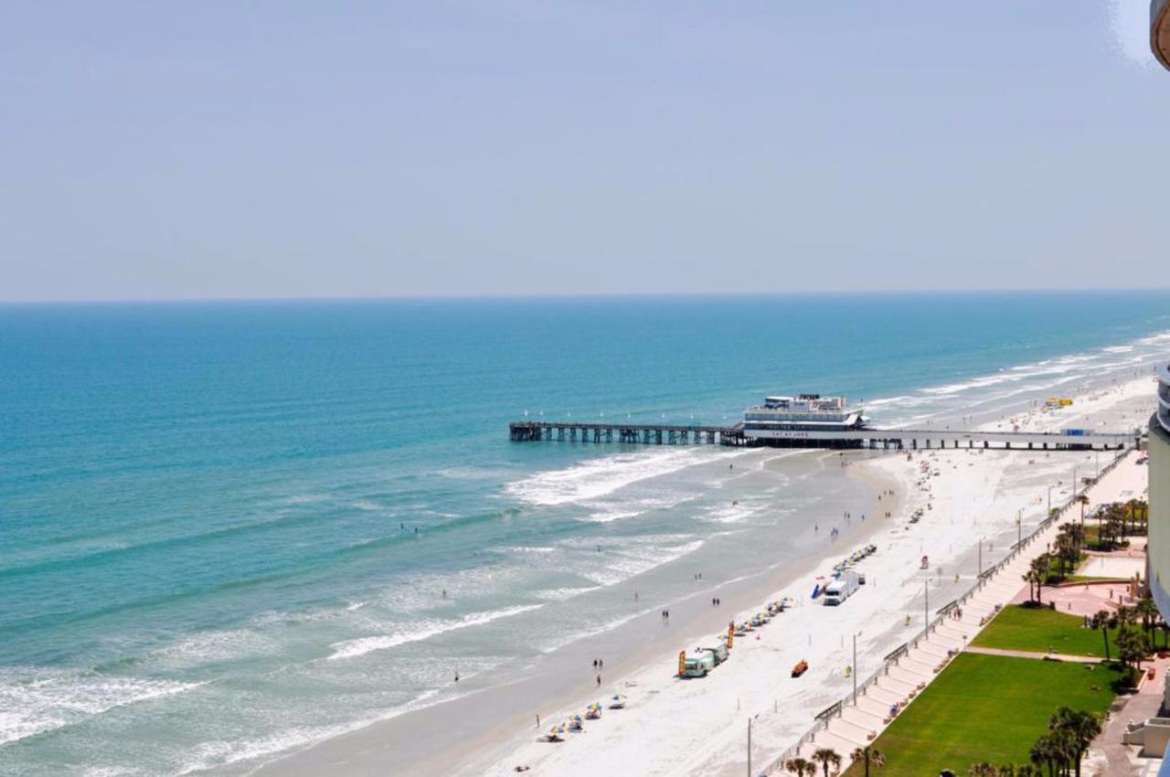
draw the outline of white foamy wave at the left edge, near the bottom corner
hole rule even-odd
[[[74,726],[118,707],[174,696],[204,685],[118,678],[92,671],[0,668],[0,744]]]

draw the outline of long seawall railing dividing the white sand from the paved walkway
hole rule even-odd
[[[1126,458],[1124,452],[1119,452],[1119,455],[1115,456],[1114,460],[1110,461],[1108,465],[1106,465],[1095,477],[1093,477],[1092,480],[1088,480],[1086,482],[1085,488],[1088,488],[1089,486],[1094,486],[1097,482],[1100,482],[1101,477],[1103,477],[1106,474],[1108,474],[1115,467],[1117,467],[1117,465],[1121,463],[1121,461],[1124,458]],[[1085,488],[1080,489],[1080,491],[1083,493]],[[826,709],[826,711],[830,710],[830,709],[835,709],[835,713],[837,713],[838,717],[840,717],[841,715],[844,715],[845,708],[849,704],[851,701],[855,704],[856,703],[856,699],[866,695],[866,690],[868,690],[881,678],[888,675],[890,668],[899,666],[899,663],[901,662],[902,658],[909,652],[910,648],[917,647],[920,641],[923,641],[927,638],[929,638],[930,634],[936,628],[938,628],[940,624],[944,623],[950,617],[950,611],[951,610],[954,610],[955,607],[958,607],[958,606],[963,606],[963,604],[965,604],[968,600],[971,599],[971,597],[973,597],[976,593],[978,593],[979,591],[982,591],[987,585],[987,583],[991,580],[991,578],[996,576],[997,572],[999,572],[1000,570],[1003,570],[1006,565],[1011,564],[1013,561],[1016,561],[1017,557],[1019,557],[1020,553],[1023,553],[1026,549],[1028,549],[1032,545],[1032,543],[1035,542],[1039,538],[1040,532],[1042,532],[1045,529],[1049,528],[1052,524],[1061,521],[1065,517],[1065,514],[1074,504],[1076,504],[1076,496],[1078,496],[1076,483],[1073,483],[1073,495],[1068,497],[1067,502],[1065,502],[1064,504],[1061,504],[1058,508],[1053,508],[1049,511],[1048,516],[1046,518],[1044,518],[1042,521],[1040,521],[1040,523],[1038,523],[1027,534],[1027,536],[1023,537],[1019,542],[1017,542],[1014,545],[1012,545],[1011,552],[1009,552],[1004,558],[999,559],[998,563],[996,563],[994,565],[987,568],[987,570],[985,570],[983,573],[980,573],[979,577],[976,579],[975,585],[972,585],[962,597],[959,597],[958,599],[955,599],[954,601],[951,601],[948,605],[945,605],[944,607],[942,607],[937,612],[937,614],[935,616],[935,618],[932,620],[930,620],[930,623],[927,624],[921,631],[918,631],[909,641],[903,642],[899,647],[894,648],[894,651],[892,651],[890,653],[888,653],[886,655],[886,658],[882,659],[881,666],[878,667],[878,669],[875,669],[873,672],[873,674],[870,674],[869,676],[867,676],[863,681],[859,681],[858,682],[856,695],[854,695],[853,692],[849,692],[847,695],[842,696],[833,706],[828,707]],[[950,659],[948,658],[948,660],[950,660]],[[784,770],[784,764],[790,758],[794,758],[797,756],[797,754],[800,751],[800,748],[803,748],[805,744],[808,744],[810,742],[814,741],[817,734],[819,734],[820,731],[824,731],[825,729],[827,729],[828,726],[830,726],[830,723],[832,722],[833,717],[834,717],[833,715],[826,715],[824,713],[821,715],[818,715],[817,716],[817,722],[813,723],[812,728],[810,728],[807,731],[805,731],[800,736],[800,738],[797,740],[797,742],[794,744],[792,744],[789,748],[786,748],[784,750],[784,752],[782,752],[779,755],[779,757],[777,757],[776,759],[773,759],[772,762],[770,762],[763,769],[763,771],[759,772],[760,777],[769,777],[770,775],[775,775],[775,773],[777,773],[779,771],[783,771]],[[845,758],[847,758],[849,756],[849,754],[847,754],[847,752],[842,752],[842,754],[839,754],[839,755],[841,755]]]

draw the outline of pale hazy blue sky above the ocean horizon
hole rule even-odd
[[[1166,284],[1145,0],[0,20],[4,301]]]

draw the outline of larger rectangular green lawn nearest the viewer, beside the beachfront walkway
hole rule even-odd
[[[1027,763],[1057,707],[1104,713],[1119,678],[1106,666],[961,653],[874,742],[886,765],[870,773],[965,775],[983,761]],[[860,764],[846,771],[861,773]]]

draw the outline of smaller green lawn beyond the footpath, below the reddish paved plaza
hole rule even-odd
[[[1049,648],[1069,655],[1104,658],[1101,632],[1082,627],[1085,619],[1047,607],[1007,605],[971,641],[976,647],[1047,653]],[[1113,644],[1116,630],[1109,632],[1109,655],[1116,658]]]

